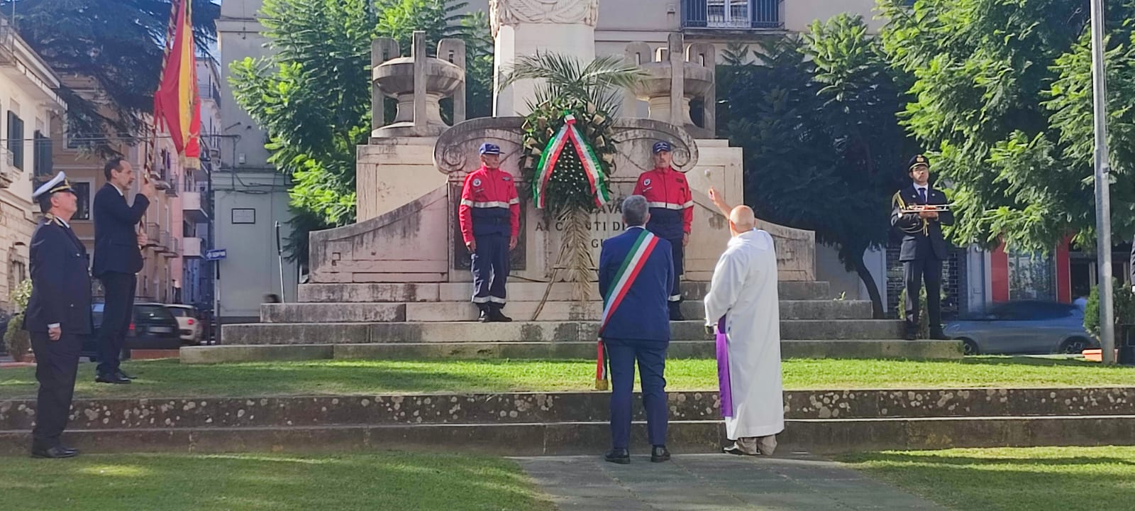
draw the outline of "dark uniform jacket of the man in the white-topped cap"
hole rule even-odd
[[[32,298],[24,328],[48,332],[58,322],[65,334],[91,333],[90,259],[70,228],[43,218],[32,234]]]

